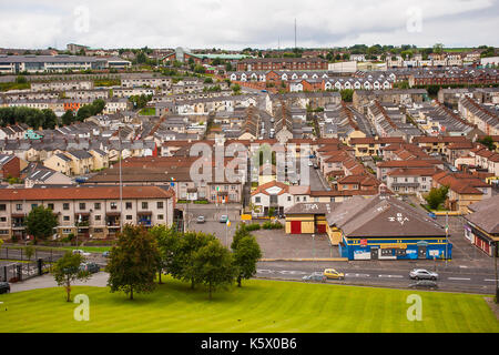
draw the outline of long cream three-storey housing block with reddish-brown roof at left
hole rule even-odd
[[[58,216],[54,236],[114,237],[124,224],[173,224],[174,192],[157,186],[1,189],[0,237],[24,240],[26,217],[43,205]]]

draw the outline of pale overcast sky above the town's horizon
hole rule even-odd
[[[499,0],[16,0],[0,47],[499,47]]]

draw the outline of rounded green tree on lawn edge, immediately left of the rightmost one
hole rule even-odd
[[[192,270],[197,283],[208,286],[210,300],[213,290],[234,282],[233,255],[216,239],[194,253]]]

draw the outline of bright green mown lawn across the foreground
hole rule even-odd
[[[73,287],[90,298],[90,321],[73,320],[63,288],[0,295],[0,332],[499,332],[480,295],[252,280],[220,291],[170,280],[130,301],[109,288]],[[409,294],[422,321],[406,316]],[[7,311],[3,308],[7,307]]]

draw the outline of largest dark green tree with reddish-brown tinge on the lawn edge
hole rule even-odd
[[[130,294],[130,300],[133,300],[133,292],[152,292],[159,258],[153,236],[143,226],[126,224],[111,250],[106,266],[111,292],[123,291]]]

